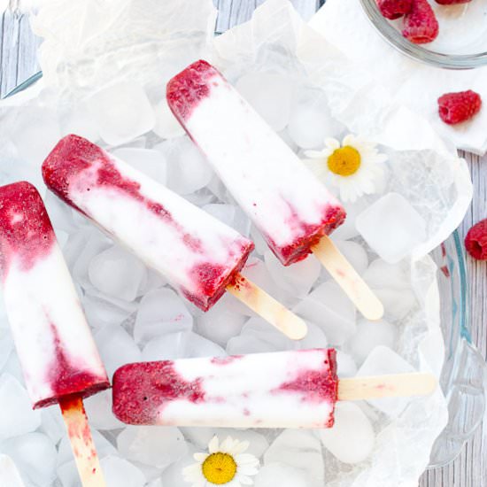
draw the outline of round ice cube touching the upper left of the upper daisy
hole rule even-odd
[[[291,111],[288,133],[302,149],[313,149],[321,148],[326,137],[338,135],[342,128],[322,100],[305,98]]]

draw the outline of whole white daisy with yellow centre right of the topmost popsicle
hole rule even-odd
[[[341,144],[327,138],[322,151],[305,151],[311,158],[305,165],[327,186],[337,187],[342,201],[354,202],[374,194],[383,178],[387,156],[376,145],[356,135],[346,135]]]

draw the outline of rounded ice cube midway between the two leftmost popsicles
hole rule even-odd
[[[88,267],[89,280],[102,293],[134,301],[144,279],[145,266],[131,252],[118,245],[95,256]]]

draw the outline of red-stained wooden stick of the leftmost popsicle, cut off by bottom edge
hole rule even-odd
[[[97,450],[91,437],[88,418],[80,397],[59,401],[83,487],[105,487]]]

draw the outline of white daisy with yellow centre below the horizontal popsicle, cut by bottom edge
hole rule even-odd
[[[197,463],[183,468],[184,480],[192,487],[252,485],[251,475],[259,472],[259,460],[250,453],[244,453],[248,447],[248,441],[227,437],[220,444],[218,437],[213,437],[208,444],[208,453],[195,453],[193,456]]]

